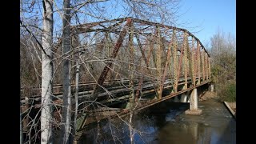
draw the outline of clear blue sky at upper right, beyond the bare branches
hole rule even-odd
[[[206,45],[218,29],[236,36],[235,0],[182,0],[178,23]]]

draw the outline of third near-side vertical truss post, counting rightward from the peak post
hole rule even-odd
[[[177,37],[176,37],[176,30],[173,31],[173,62],[174,62],[174,85],[173,90],[174,93],[178,91],[178,58],[177,58]]]

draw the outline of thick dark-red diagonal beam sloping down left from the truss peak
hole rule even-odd
[[[127,18],[126,26],[130,27],[131,26],[131,22],[132,22],[132,19],[131,18]],[[123,28],[121,34],[119,35],[118,41],[114,45],[114,50],[113,50],[113,52],[112,52],[112,54],[110,56],[111,59],[114,59],[114,58],[117,57],[118,51],[119,51],[120,47],[122,46],[123,39],[126,36],[126,31],[127,31],[126,26]],[[94,88],[94,91],[93,91],[94,97],[93,98],[97,98],[97,94],[96,93],[98,92],[100,86],[102,86],[103,82],[105,81],[106,75],[108,74],[108,72],[110,71],[110,68],[112,66],[113,66],[113,62],[107,62],[106,63],[106,66],[104,67],[104,69],[102,71],[102,74],[98,78],[98,82],[97,82],[98,85],[96,85],[95,88]]]

